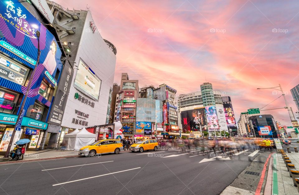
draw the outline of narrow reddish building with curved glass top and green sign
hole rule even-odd
[[[139,96],[138,80],[130,80],[127,73],[121,73],[120,91],[116,96],[115,121],[121,121],[125,137],[134,137],[136,123],[136,100]]]

